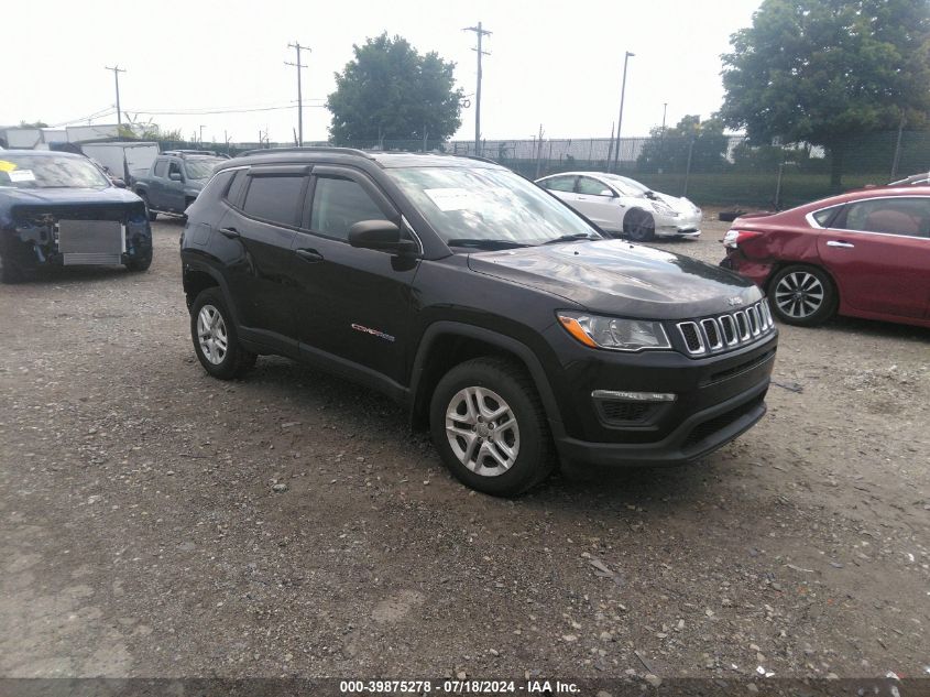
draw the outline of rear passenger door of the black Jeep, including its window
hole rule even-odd
[[[244,192],[230,192],[236,205],[218,229],[238,250],[226,270],[240,325],[253,340],[289,347],[288,353],[296,351],[292,248],[308,183],[307,165],[253,166]]]

